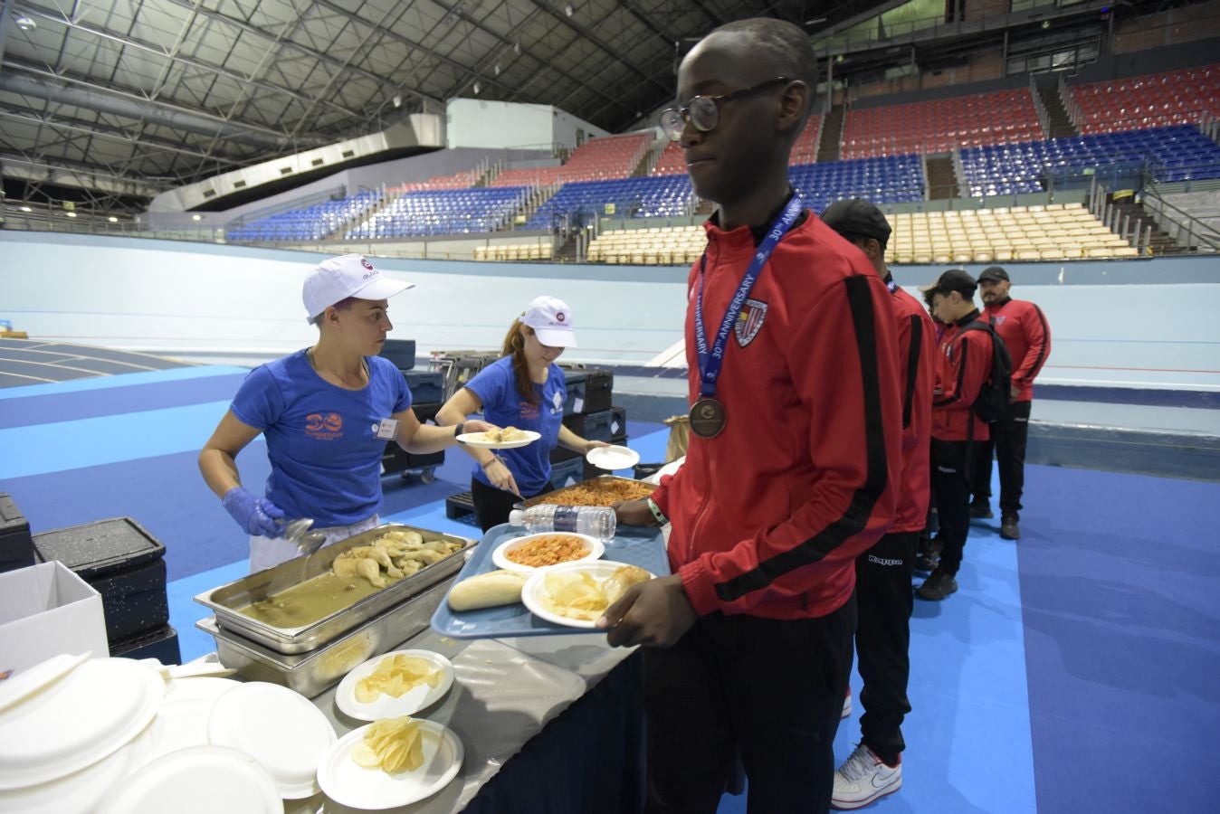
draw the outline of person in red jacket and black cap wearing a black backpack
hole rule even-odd
[[[932,308],[946,324],[941,338],[937,395],[932,400],[932,494],[941,530],[941,563],[915,591],[938,601],[958,590],[958,568],[970,534],[970,465],[974,446],[988,439],[987,424],[975,413],[978,391],[992,373],[992,336],[963,330],[978,320],[975,279],[950,269],[932,286]]]

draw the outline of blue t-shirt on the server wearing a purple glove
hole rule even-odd
[[[366,356],[368,384],[346,390],[326,381],[305,351],[250,372],[229,409],[267,439],[267,500],[285,517],[318,528],[351,525],[381,508],[386,441],[375,425],[411,406],[403,374]]]

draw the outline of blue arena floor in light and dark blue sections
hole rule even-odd
[[[244,373],[193,367],[0,389],[0,491],[35,533],[129,515],[165,542],[184,659],[212,648],[192,597],[246,570],[245,535],[195,468]],[[662,425],[628,431],[645,462],[662,458]],[[260,484],[261,441],[238,463]],[[444,498],[468,487],[466,456],[451,452],[436,474],[428,485],[387,476],[382,517],[476,535],[444,512]],[[960,591],[915,607],[904,785],[875,808],[1215,810],[1220,484],[1030,467],[1025,502],[1020,543],[1000,540],[996,520],[976,524]],[[859,736],[855,707],[836,740],[841,759]],[[721,805],[744,809],[738,797]]]

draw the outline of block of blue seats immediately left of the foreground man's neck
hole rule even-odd
[[[527,229],[549,229],[564,216],[576,212],[612,214],[632,218],[666,218],[689,214],[694,190],[687,175],[623,178],[620,180],[573,182],[564,184],[555,195],[538,207],[526,224]]]

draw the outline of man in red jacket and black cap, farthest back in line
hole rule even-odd
[[[999,462],[999,536],[1020,540],[1021,494],[1025,491],[1025,441],[1033,405],[1033,380],[1050,356],[1050,325],[1042,308],[1008,295],[1013,286],[999,266],[978,275],[978,296],[987,319],[1013,357],[1013,405],[992,424],[992,440],[978,445],[975,458],[975,500],[971,517],[994,517],[991,511],[992,451]]]

